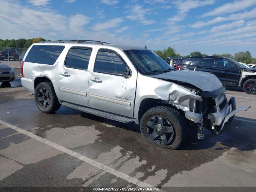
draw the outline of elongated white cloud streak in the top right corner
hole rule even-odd
[[[219,6],[214,10],[211,10],[203,14],[202,17],[233,13],[236,11],[244,10],[246,8],[250,8],[255,4],[256,4],[256,0],[235,0],[232,3],[223,4],[222,6]]]

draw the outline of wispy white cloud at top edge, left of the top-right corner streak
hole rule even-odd
[[[194,8],[203,7],[206,5],[213,4],[215,0],[177,0],[173,1],[178,11],[177,14],[173,17],[168,18],[169,21],[178,22],[184,20],[187,16],[187,13]]]

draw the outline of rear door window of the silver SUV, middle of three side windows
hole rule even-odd
[[[87,70],[91,53],[92,48],[71,48],[66,58],[66,67]]]

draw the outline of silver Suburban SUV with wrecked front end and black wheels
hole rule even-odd
[[[89,40],[32,44],[22,62],[22,85],[36,105],[61,105],[124,123],[140,124],[143,138],[177,149],[192,127],[220,134],[230,128],[235,99],[208,72],[174,71],[153,51]],[[230,112],[231,106],[231,112]]]

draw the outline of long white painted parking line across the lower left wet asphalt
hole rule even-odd
[[[115,170],[113,168],[110,168],[109,166],[106,166],[106,165],[104,165],[104,164],[102,164],[100,162],[97,162],[97,161],[95,161],[93,159],[90,159],[90,158],[88,158],[86,156],[83,156],[83,155],[81,155],[81,154],[79,154],[77,152],[74,152],[74,151],[72,151],[72,150],[70,150],[68,148],[60,146],[60,145],[58,145],[58,144],[56,144],[54,142],[51,142],[51,141],[46,140],[46,139],[44,139],[42,137],[36,136],[35,134],[32,134],[32,133],[30,133],[30,132],[28,132],[26,130],[18,128],[18,127],[14,126],[14,125],[11,125],[11,124],[7,123],[7,122],[4,122],[4,121],[0,120],[0,124],[3,124],[3,125],[11,128],[11,129],[13,129],[13,130],[16,130],[16,131],[26,135],[26,136],[29,136],[29,137],[31,137],[33,139],[36,139],[36,140],[38,140],[38,141],[40,141],[40,142],[42,142],[42,143],[44,143],[44,144],[46,144],[48,146],[56,148],[56,149],[66,153],[66,154],[69,154],[69,155],[71,155],[71,156],[73,156],[75,158],[78,158],[78,159],[80,159],[80,160],[82,160],[82,161],[84,161],[84,162],[86,162],[86,163],[88,163],[88,164],[90,164],[92,166],[98,167],[98,168],[100,168],[100,169],[102,169],[102,170],[104,170],[104,171],[106,171],[106,172],[108,172],[110,174],[113,174],[113,175],[115,175],[117,177],[120,177],[120,178],[122,178],[122,179],[124,179],[124,180],[126,180],[126,181],[128,181],[130,183],[135,184],[136,186],[156,188],[156,187],[154,187],[154,186],[152,186],[152,185],[150,185],[148,183],[140,181],[140,180],[138,180],[138,179],[136,179],[134,177],[131,177],[131,176],[129,176],[127,174],[124,174],[124,173],[122,173],[120,171],[117,171],[117,170]],[[163,190],[160,190],[160,189],[158,191],[164,192]]]

